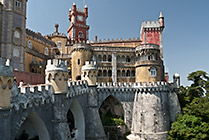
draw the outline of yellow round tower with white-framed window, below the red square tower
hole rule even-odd
[[[136,47],[136,82],[164,81],[164,66],[157,44]]]

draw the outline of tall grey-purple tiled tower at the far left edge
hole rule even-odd
[[[1,0],[1,57],[13,61],[16,70],[24,71],[27,0]]]

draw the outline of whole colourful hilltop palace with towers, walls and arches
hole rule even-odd
[[[130,140],[166,140],[180,113],[180,77],[169,83],[164,72],[162,13],[142,23],[140,37],[90,41],[87,6],[73,4],[67,35],[56,24],[45,36],[26,28],[26,7],[0,0],[3,140],[110,139],[108,112],[123,119],[117,129]]]

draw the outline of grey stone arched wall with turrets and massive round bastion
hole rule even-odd
[[[1,140],[105,140],[99,108],[110,96],[122,105],[129,139],[166,139],[180,113],[178,79],[172,84],[96,84],[89,76],[69,82],[66,67],[62,60],[50,60],[46,84],[17,87],[11,62],[0,59]]]

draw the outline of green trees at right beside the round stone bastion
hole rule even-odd
[[[168,140],[209,139],[209,77],[204,71],[188,76],[192,84],[181,87],[178,94],[182,115],[171,126]]]

